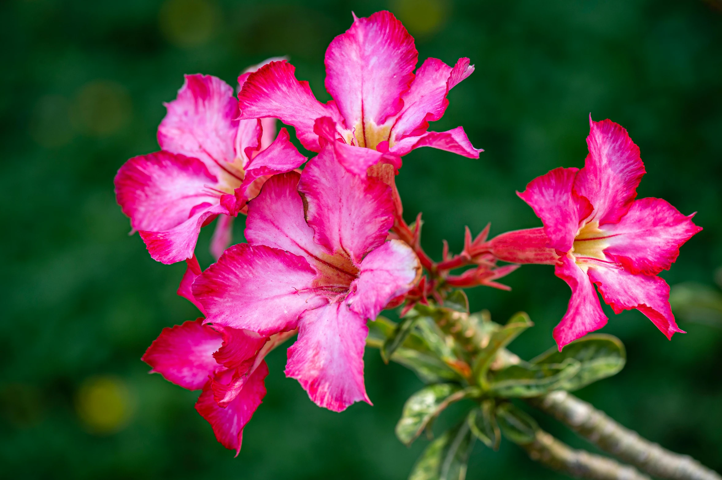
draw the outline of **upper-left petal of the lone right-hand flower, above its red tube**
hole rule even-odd
[[[547,246],[561,252],[572,249],[580,221],[592,210],[586,198],[573,190],[577,172],[575,168],[560,167],[536,177],[526,185],[526,190],[517,192],[544,223],[544,232],[549,237]]]

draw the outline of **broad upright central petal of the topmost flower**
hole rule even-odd
[[[390,12],[355,18],[326,50],[326,90],[362,146],[367,125],[382,125],[404,102],[419,54],[414,38]],[[364,138],[364,141],[361,140]]]

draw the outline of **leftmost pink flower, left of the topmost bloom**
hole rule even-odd
[[[240,76],[242,84],[248,74]],[[163,263],[193,256],[201,226],[221,215],[211,251],[230,244],[232,218],[270,174],[305,161],[275,120],[237,120],[233,89],[214,76],[186,75],[158,127],[161,151],[136,156],[116,175],[116,197],[148,252]]]

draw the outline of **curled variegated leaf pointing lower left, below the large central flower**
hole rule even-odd
[[[449,404],[477,392],[478,388],[462,390],[453,383],[438,383],[422,388],[406,400],[401,419],[396,424],[396,437],[406,446],[411,445]]]

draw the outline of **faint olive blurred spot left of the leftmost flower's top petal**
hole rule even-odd
[[[105,136],[123,128],[130,120],[131,110],[131,97],[124,86],[95,80],[79,89],[70,119],[82,133]]]

